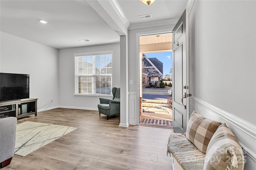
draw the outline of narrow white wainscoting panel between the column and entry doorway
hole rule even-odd
[[[129,92],[128,120],[129,125],[138,125],[138,101],[136,92]]]

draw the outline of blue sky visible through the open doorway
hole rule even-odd
[[[170,74],[170,69],[172,68],[172,52],[163,52],[163,53],[146,53],[148,58],[157,58],[163,63],[163,78],[165,74]]]

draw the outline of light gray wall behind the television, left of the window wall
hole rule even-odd
[[[38,111],[57,107],[58,49],[4,32],[0,36],[0,72],[30,74],[30,98],[38,98]]]

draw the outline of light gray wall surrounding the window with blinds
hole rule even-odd
[[[100,96],[74,96],[74,54],[113,51],[112,86],[120,87],[120,44],[96,45],[59,50],[59,106],[98,110]],[[103,96],[103,98],[109,98]]]

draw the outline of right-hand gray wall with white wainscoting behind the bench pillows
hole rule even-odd
[[[201,1],[189,9],[191,110],[225,122],[256,166],[256,1]]]

